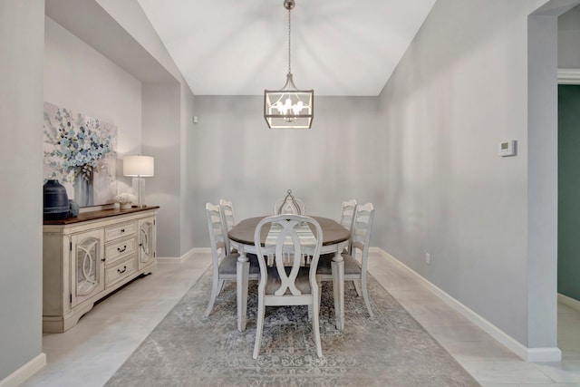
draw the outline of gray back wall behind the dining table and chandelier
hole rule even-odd
[[[282,75],[283,76],[283,75]],[[306,213],[339,218],[343,200],[384,206],[387,166],[378,125],[377,98],[316,97],[310,130],[270,130],[262,116],[264,98],[195,99],[189,137],[194,204],[194,244],[208,247],[206,202],[232,200],[237,219],[271,214],[287,189],[303,198]],[[375,217],[384,232],[385,219]],[[372,236],[374,244],[379,231]]]

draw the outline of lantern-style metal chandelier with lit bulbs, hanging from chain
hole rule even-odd
[[[310,129],[314,118],[314,90],[298,90],[290,67],[290,11],[294,0],[285,0],[288,10],[288,74],[281,90],[264,91],[264,118],[271,129]]]

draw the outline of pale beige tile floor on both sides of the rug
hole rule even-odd
[[[47,365],[21,386],[102,386],[210,265],[198,253],[160,263],[64,334],[45,334]],[[559,363],[527,363],[440,301],[401,266],[371,253],[369,271],[484,387],[580,387],[580,311],[558,305]]]

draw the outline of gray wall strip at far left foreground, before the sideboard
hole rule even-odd
[[[0,381],[42,352],[43,0],[0,2]]]

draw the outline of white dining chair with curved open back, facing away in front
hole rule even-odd
[[[307,228],[309,226],[309,228]],[[261,245],[262,228],[275,229],[275,237]],[[306,232],[304,232],[304,229]],[[314,230],[314,232],[312,232]],[[272,235],[269,232],[268,237]],[[268,242],[270,240],[270,242]],[[295,214],[267,217],[257,224],[254,244],[260,265],[258,306],[254,359],[260,352],[266,306],[307,305],[312,319],[316,354],[323,356],[320,343],[319,287],[316,282],[316,266],[323,242],[323,231],[314,218]],[[302,256],[312,256],[310,266],[301,266]],[[265,256],[274,256],[274,265],[268,266]],[[312,313],[310,311],[312,310]]]

